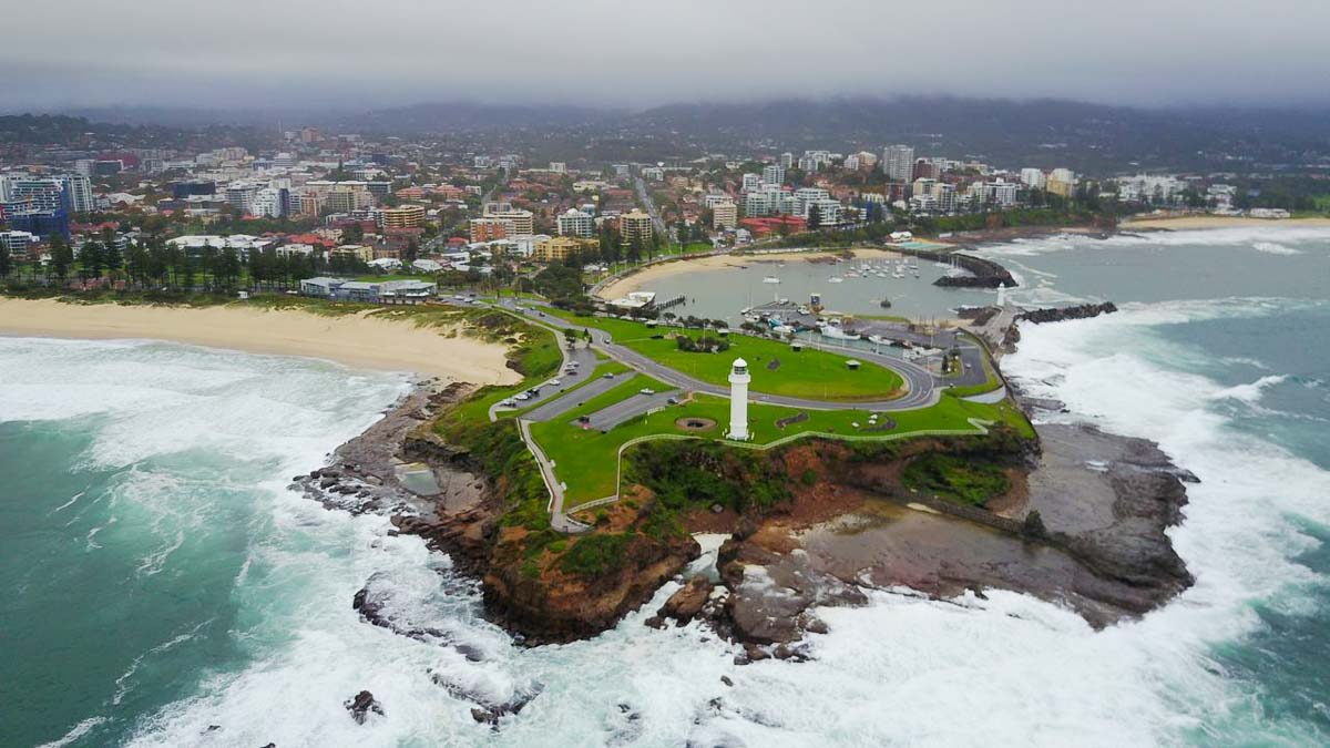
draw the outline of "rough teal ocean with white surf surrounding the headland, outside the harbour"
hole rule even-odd
[[[814,661],[734,665],[700,624],[523,650],[472,582],[290,478],[404,377],[158,342],[0,338],[4,745],[1314,745],[1330,741],[1330,230],[1048,238],[984,250],[1024,326],[1004,369],[1201,482],[1197,578],[1101,632],[1013,592],[872,591]],[[480,654],[366,624],[391,614]],[[721,681],[733,680],[733,687]],[[384,715],[343,701],[370,689]],[[471,699],[539,695],[497,731]]]

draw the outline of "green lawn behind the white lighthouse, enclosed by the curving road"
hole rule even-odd
[[[710,385],[729,386],[730,365],[742,357],[749,363],[753,375],[749,389],[754,393],[843,402],[888,399],[902,394],[903,382],[895,371],[868,362],[851,371],[845,365],[847,355],[811,349],[795,353],[786,342],[739,334],[729,335],[730,349],[724,353],[686,353],[673,339],[653,339],[652,335],[682,331],[696,339],[704,334],[716,337],[716,333],[665,325],[652,329],[629,319],[576,317],[560,310],[549,313],[573,325],[605,330],[616,343]],[[767,369],[771,361],[779,361],[779,367]]]

